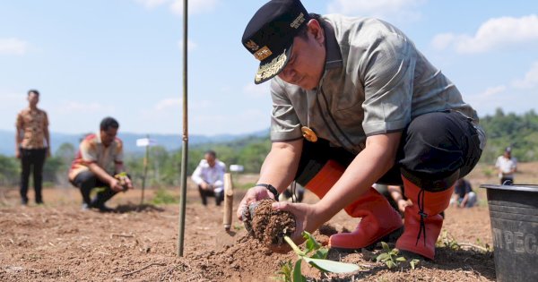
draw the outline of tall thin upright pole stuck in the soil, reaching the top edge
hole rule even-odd
[[[187,115],[187,0],[183,0],[183,146],[181,150],[181,198],[179,199],[178,256],[183,256],[183,236],[185,235],[185,205],[187,203],[187,162],[188,162],[188,115]]]

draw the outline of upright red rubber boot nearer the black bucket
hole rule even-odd
[[[396,248],[414,252],[433,260],[435,243],[443,226],[440,212],[447,209],[454,185],[440,192],[428,192],[412,184],[404,176],[404,192],[412,206],[405,208],[404,234],[396,241]]]

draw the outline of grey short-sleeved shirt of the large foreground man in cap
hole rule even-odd
[[[456,86],[402,31],[376,19],[322,19],[325,73],[317,89],[303,90],[279,77],[271,81],[272,141],[302,138],[300,128],[308,126],[333,146],[358,154],[367,136],[402,131],[418,115],[455,110],[478,124]]]

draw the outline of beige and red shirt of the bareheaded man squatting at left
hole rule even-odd
[[[86,136],[69,169],[69,180],[73,181],[76,175],[89,170],[88,166],[91,163],[97,164],[108,175],[114,175],[115,164],[123,163],[123,142],[116,138],[108,147],[105,147],[101,142],[100,132]]]

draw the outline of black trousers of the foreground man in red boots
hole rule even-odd
[[[394,167],[376,183],[403,185],[404,175],[426,191],[443,191],[469,174],[481,155],[478,133],[469,118],[454,111],[420,115],[402,132]],[[304,141],[296,181],[306,185],[329,159],[348,167],[353,158],[328,141]]]

